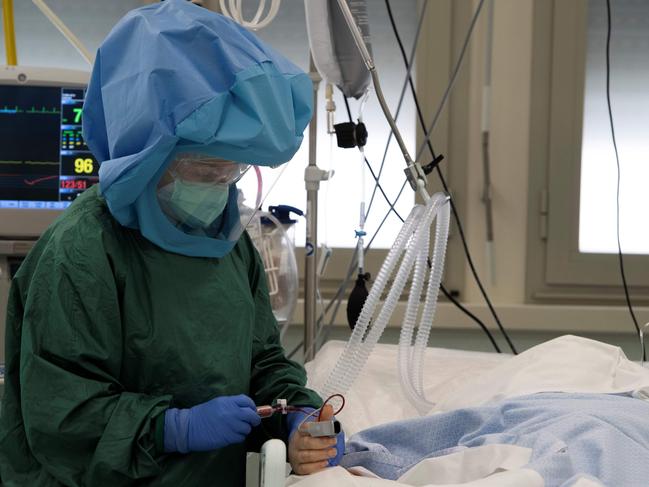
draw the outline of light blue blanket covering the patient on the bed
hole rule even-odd
[[[581,475],[649,486],[649,403],[623,395],[535,394],[389,423],[352,436],[341,465],[396,480],[426,458],[487,444],[530,448],[527,468],[548,487]]]

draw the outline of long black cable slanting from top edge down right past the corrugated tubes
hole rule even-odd
[[[406,64],[406,69],[408,67],[408,56],[406,54],[406,51],[403,47],[403,42],[401,40],[401,36],[399,35],[399,30],[397,28],[396,22],[394,20],[394,15],[392,13],[392,7],[390,4],[390,0],[385,0],[385,5],[388,10],[388,17],[390,18],[390,24],[392,26],[392,30],[394,32],[394,36],[397,39],[397,44],[399,45],[399,50],[401,51],[401,57]],[[478,12],[476,12],[477,14]],[[475,20],[475,19],[474,19]],[[465,43],[466,44],[466,43]],[[456,69],[457,71],[457,69]],[[413,100],[415,102],[415,106],[417,108],[417,118],[419,119],[419,124],[421,125],[422,130],[426,131],[426,123],[424,120],[424,116],[421,110],[421,105],[419,103],[419,97],[417,96],[417,91],[415,90],[415,86],[412,80],[412,76],[410,73],[408,73],[408,82],[410,84],[410,90],[412,92]],[[448,90],[447,90],[448,91]],[[433,150],[430,138],[427,138],[426,143],[428,145],[428,149],[430,150],[430,153],[433,157],[433,159],[436,157],[435,151]],[[480,293],[482,294],[482,297],[485,300],[485,303],[489,307],[489,311],[491,312],[491,315],[493,316],[494,320],[496,321],[496,324],[498,325],[498,328],[500,329],[500,332],[502,333],[503,337],[505,337],[505,340],[507,341],[507,344],[509,345],[509,348],[511,349],[513,354],[517,354],[518,352],[516,351],[516,348],[514,347],[514,344],[512,343],[511,339],[509,338],[509,335],[507,334],[507,331],[505,330],[504,326],[502,325],[502,322],[500,321],[500,317],[498,316],[498,313],[496,313],[496,310],[491,303],[491,300],[489,299],[489,296],[487,294],[487,291],[485,290],[482,281],[480,280],[480,277],[478,276],[478,271],[475,268],[475,265],[473,263],[473,258],[471,256],[471,252],[469,251],[469,246],[466,241],[466,236],[464,234],[464,228],[462,226],[462,222],[460,220],[460,216],[457,212],[457,208],[455,207],[455,202],[453,201],[453,198],[450,197],[450,191],[448,188],[448,185],[446,184],[446,179],[444,178],[444,175],[442,173],[442,170],[440,169],[439,166],[436,166],[435,169],[437,170],[437,175],[439,176],[439,179],[442,183],[442,186],[444,188],[444,191],[449,195],[449,203],[451,204],[451,211],[453,213],[453,219],[455,220],[455,223],[457,224],[458,228],[458,233],[460,234],[460,239],[462,241],[462,247],[464,248],[464,254],[466,255],[467,263],[469,264],[469,268],[471,269],[471,274],[473,275],[473,278],[478,285],[478,288],[480,289]]]

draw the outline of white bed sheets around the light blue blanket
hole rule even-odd
[[[328,342],[315,359],[306,364],[310,387],[321,389],[344,347],[343,342]],[[358,379],[345,393],[345,409],[337,417],[348,438],[377,425],[419,416],[401,391],[396,367],[397,353],[396,345],[378,345]],[[639,399],[649,398],[648,369],[628,360],[618,347],[585,338],[560,337],[516,357],[441,348],[427,348],[425,353],[425,394],[435,402],[431,414],[540,392],[632,393]],[[536,475],[536,481],[540,479],[535,472],[523,468],[526,463],[520,461],[516,469],[507,472],[520,475],[518,480],[493,484],[486,479],[484,483],[481,481],[475,485],[543,485],[542,480],[535,483],[534,479],[526,483],[526,475]],[[338,472],[336,469],[328,470],[330,472],[323,472],[322,475],[310,476],[312,480],[307,477],[289,478],[286,485],[320,487],[333,485],[334,482],[339,487],[404,485],[383,479],[367,483],[369,479],[353,479],[342,469],[337,469]],[[275,482],[266,486],[284,485],[279,478]],[[601,484],[580,481],[574,485]]]

